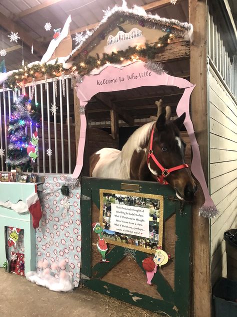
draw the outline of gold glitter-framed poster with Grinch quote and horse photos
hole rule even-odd
[[[100,189],[99,199],[99,224],[107,243],[146,253],[162,247],[163,196]]]

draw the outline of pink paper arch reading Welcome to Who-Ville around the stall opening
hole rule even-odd
[[[80,106],[83,108],[92,96],[99,92],[118,91],[137,88],[141,86],[176,86],[180,89],[184,88],[184,92],[178,102],[176,112],[180,116],[186,112],[184,126],[189,135],[191,142],[193,159],[191,163],[191,171],[194,177],[199,181],[205,203],[202,209],[214,208],[213,201],[209,196],[209,191],[205,182],[204,173],[201,167],[199,147],[195,138],[193,125],[189,115],[189,100],[192,90],[195,85],[183,78],[173,77],[166,73],[161,75],[145,68],[145,63],[136,61],[124,67],[107,66],[99,74],[85,76],[81,83],[76,84],[76,94],[80,100]],[[80,114],[80,139],[77,151],[76,166],[73,172],[73,177],[77,178],[80,175],[83,166],[83,152],[85,144],[86,119],[84,112]]]

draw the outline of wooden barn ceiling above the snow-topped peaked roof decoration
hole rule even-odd
[[[187,0],[177,0],[175,6],[169,0],[127,0],[127,7],[143,6],[147,12],[161,17],[188,21]],[[103,17],[103,10],[122,0],[0,0],[0,49],[7,49],[4,57],[6,69],[18,69],[22,56],[25,63],[38,61],[47,49],[53,36],[53,29],[62,28],[68,15],[71,15],[70,33],[83,32],[95,27]],[[167,10],[168,9],[168,10]],[[45,23],[52,26],[44,30]],[[18,43],[10,42],[10,32],[18,32]],[[34,52],[31,54],[31,45]],[[73,47],[75,47],[73,41]]]

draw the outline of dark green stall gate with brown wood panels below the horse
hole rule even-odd
[[[126,245],[108,244],[106,260],[101,263],[97,235],[91,224],[99,222],[100,190],[163,196],[162,249],[171,255],[157,269],[147,285],[142,260],[145,252],[127,252]],[[82,177],[81,180],[81,281],[84,286],[165,316],[188,317],[190,306],[191,206],[176,199],[169,186],[155,182],[137,182]]]

